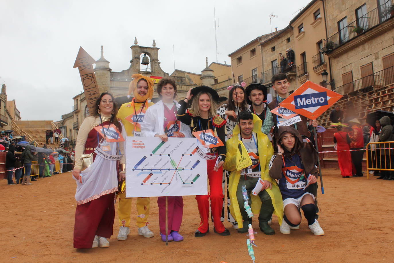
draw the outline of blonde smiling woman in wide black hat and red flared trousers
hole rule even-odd
[[[191,107],[186,108],[192,99]],[[196,196],[197,205],[201,217],[199,228],[195,231],[195,237],[202,237],[209,232],[209,206],[214,218],[214,232],[219,235],[230,235],[223,222],[220,221],[221,209],[223,207],[222,175],[223,163],[226,158],[225,146],[225,120],[216,116],[216,101],[219,99],[217,92],[207,86],[199,86],[190,89],[186,98],[178,110],[177,119],[190,126],[191,132],[212,130],[223,142],[223,146],[205,148],[208,149],[204,155],[207,159],[207,175],[209,179],[210,193]],[[216,166],[217,158],[221,158]]]

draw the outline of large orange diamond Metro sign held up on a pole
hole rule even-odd
[[[309,119],[316,119],[342,95],[307,80],[280,105]]]

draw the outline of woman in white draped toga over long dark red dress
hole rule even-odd
[[[126,138],[125,129],[116,118],[118,107],[110,93],[104,92],[100,95],[95,112],[97,113],[94,116],[84,120],[76,139],[75,166],[72,171],[77,184],[74,248],[110,246],[107,238],[112,235],[115,217],[114,197],[118,190],[119,164],[116,160],[97,156],[95,150],[105,153],[104,156],[121,158],[119,162],[125,164],[124,155],[121,157],[124,153],[124,142],[112,142],[110,139],[113,138],[108,133],[110,126],[114,125],[115,132]],[[93,154],[93,163],[81,171],[83,153]],[[125,177],[124,169],[119,177],[119,181]]]

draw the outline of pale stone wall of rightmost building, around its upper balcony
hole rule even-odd
[[[340,93],[343,85],[349,83],[349,77],[345,81],[347,83],[344,83],[342,78],[344,73],[351,74],[353,81],[358,80],[362,77],[361,67],[371,62],[373,69],[371,72],[381,71],[383,70],[382,58],[394,52],[394,19],[390,17],[390,14],[387,15],[387,19],[381,19],[382,15],[375,0],[327,0],[326,17],[329,35],[327,40],[337,39],[338,22],[344,17],[347,18],[348,25],[360,25],[360,19],[355,22],[357,20],[355,10],[364,4],[368,12],[366,15],[368,23],[373,23],[372,19],[375,18],[379,19],[378,24],[359,35],[351,30],[354,26],[348,26],[345,34],[349,35],[349,40],[327,52],[331,60],[331,74],[335,81],[335,88],[339,87]],[[353,88],[353,84],[351,85]],[[357,82],[354,85],[357,85]]]

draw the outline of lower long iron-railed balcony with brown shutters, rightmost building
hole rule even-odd
[[[352,82],[335,88],[335,92],[344,95],[344,98],[352,97],[359,92],[372,91],[394,83],[394,66],[377,71]]]

